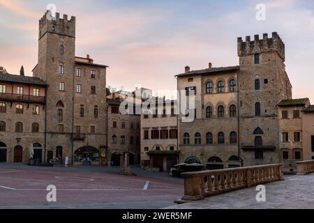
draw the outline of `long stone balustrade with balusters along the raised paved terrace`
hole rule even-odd
[[[197,201],[214,194],[283,180],[282,170],[282,164],[269,164],[184,173],[182,201]]]

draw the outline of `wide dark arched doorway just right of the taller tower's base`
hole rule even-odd
[[[100,151],[93,146],[83,146],[74,152],[74,162],[99,162]]]

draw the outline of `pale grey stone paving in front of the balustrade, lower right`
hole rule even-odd
[[[284,178],[264,185],[266,202],[257,202],[256,187],[251,187],[165,209],[314,209],[314,174]]]

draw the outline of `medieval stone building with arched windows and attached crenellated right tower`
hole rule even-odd
[[[279,162],[278,107],[292,98],[285,45],[272,33],[238,38],[239,66],[177,75],[178,90],[195,94],[195,119],[179,117],[181,162],[208,169]]]

